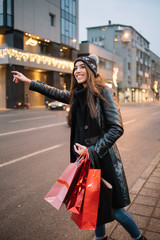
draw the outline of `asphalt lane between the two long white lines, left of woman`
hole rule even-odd
[[[0,163],[12,161],[57,144],[69,143],[69,133],[70,128],[63,123],[60,126],[0,136]]]

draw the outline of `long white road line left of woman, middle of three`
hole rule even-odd
[[[53,123],[53,124],[48,124],[48,125],[44,125],[44,126],[41,126],[41,127],[27,128],[27,129],[17,130],[17,131],[13,131],[13,132],[0,133],[0,137],[1,136],[12,135],[12,134],[16,134],[16,133],[23,133],[23,132],[29,132],[29,131],[49,128],[49,127],[56,127],[56,126],[60,126],[60,125],[64,125],[64,124],[66,124],[66,122]]]

